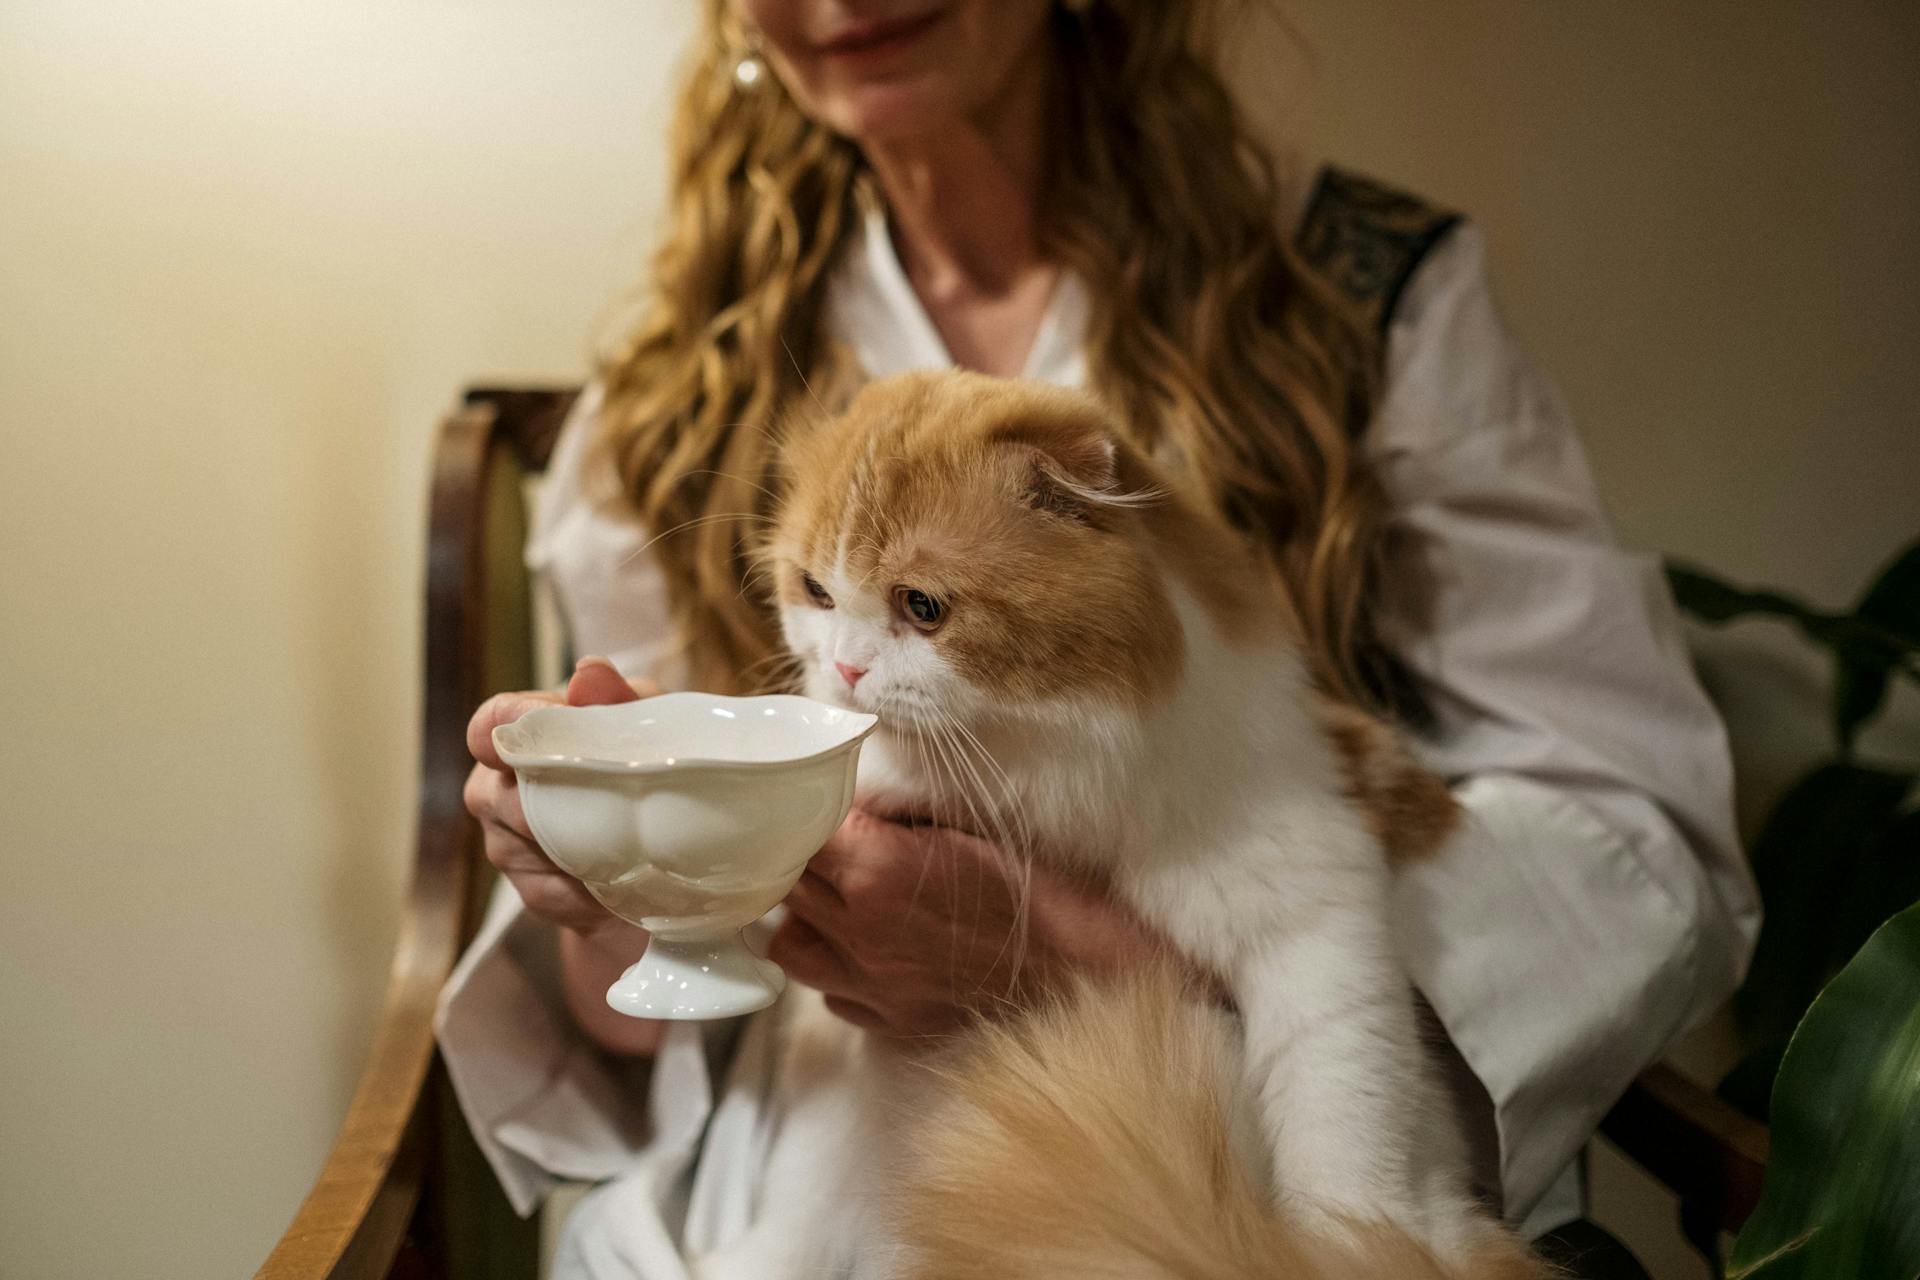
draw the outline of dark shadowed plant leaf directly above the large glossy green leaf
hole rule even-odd
[[[1843,923],[1851,921],[1857,944],[1866,936],[1859,927],[1864,913],[1878,906],[1885,919],[1907,904],[1885,896],[1891,887],[1874,865],[1874,850],[1912,789],[1912,773],[1826,764],[1797,781],[1766,818],[1753,841],[1753,879],[1766,915],[1747,981],[1734,996],[1749,1048],[1784,1040],[1845,963],[1851,948],[1841,954],[1836,946]],[[1866,887],[1855,889],[1862,881]]]

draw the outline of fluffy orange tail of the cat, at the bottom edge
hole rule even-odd
[[[897,1224],[912,1280],[1521,1280],[1503,1234],[1444,1268],[1388,1228],[1275,1213],[1235,1150],[1225,1021],[1169,971],[979,1032],[920,1126]]]

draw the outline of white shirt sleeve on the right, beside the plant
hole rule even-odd
[[[1626,1084],[1740,983],[1759,902],[1726,735],[1659,562],[1622,551],[1457,226],[1388,332],[1380,635],[1467,825],[1405,867],[1413,979],[1486,1086],[1524,1217]]]

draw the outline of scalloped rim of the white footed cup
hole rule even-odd
[[[655,712],[689,714],[689,716],[697,716],[701,710],[707,712],[720,710],[735,714],[741,710],[764,710],[764,712],[812,710],[822,714],[824,723],[839,725],[841,731],[833,737],[831,743],[828,743],[818,750],[808,750],[804,756],[780,756],[774,760],[741,760],[741,758],[728,758],[714,754],[707,756],[676,754],[655,760],[634,760],[628,756],[609,756],[588,750],[534,750],[534,743],[528,741],[543,723],[553,720],[568,720],[578,723],[582,712],[586,712],[591,720],[624,720],[636,716],[639,708],[649,708]],[[766,770],[793,770],[851,750],[860,741],[864,741],[866,735],[872,733],[877,725],[879,725],[879,716],[849,710],[845,706],[833,706],[829,702],[806,699],[797,693],[762,693],[745,699],[735,699],[722,693],[660,693],[651,699],[637,699],[634,702],[611,702],[601,706],[538,706],[520,716],[518,720],[515,720],[513,723],[497,725],[493,729],[493,750],[497,750],[499,758],[515,770],[584,770],[591,773],[674,773],[684,770],[766,771]]]

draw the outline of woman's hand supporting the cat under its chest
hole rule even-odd
[[[1171,950],[1104,892],[1041,865],[1021,921],[1018,883],[993,841],[854,810],[787,894],[768,958],[858,1027],[931,1036],[1025,1007],[1071,973]]]

